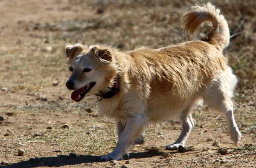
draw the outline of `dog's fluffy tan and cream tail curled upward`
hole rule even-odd
[[[182,26],[184,26],[184,31],[190,31],[191,34],[194,34],[201,23],[211,22],[213,30],[202,40],[215,45],[222,51],[229,44],[230,32],[227,21],[220,14],[220,10],[215,9],[211,3],[204,4],[204,6],[193,6],[193,9],[183,14]]]

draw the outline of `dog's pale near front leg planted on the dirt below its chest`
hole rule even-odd
[[[128,117],[125,128],[119,136],[116,148],[110,154],[102,157],[102,160],[123,159],[123,154],[128,154],[128,148],[143,132],[147,121],[148,119],[145,116],[144,111],[143,113],[133,114]]]

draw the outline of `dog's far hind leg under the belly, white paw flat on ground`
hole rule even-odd
[[[192,105],[190,105],[189,107],[187,107],[181,114],[180,116],[180,122],[181,122],[181,126],[182,126],[182,130],[180,133],[180,136],[178,137],[178,139],[169,145],[166,145],[166,149],[168,150],[175,150],[177,149],[180,145],[184,146],[186,143],[187,138],[189,137],[189,134],[192,130],[192,128],[194,127],[194,122],[192,119]]]

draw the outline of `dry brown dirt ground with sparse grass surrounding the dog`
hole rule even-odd
[[[224,114],[203,106],[194,111],[195,127],[185,146],[187,152],[163,148],[181,131],[180,122],[168,120],[150,125],[144,133],[145,143],[131,146],[125,160],[102,162],[100,156],[116,145],[115,123],[98,113],[96,97],[75,103],[65,86],[69,77],[65,43],[110,44],[128,51],[195,40],[209,27],[205,24],[195,37],[189,37],[180,28],[180,17],[193,4],[204,2],[0,0],[0,115],[4,117],[0,121],[0,167],[256,167],[253,0],[211,1],[227,19],[230,34],[236,34],[224,55],[239,78],[233,98],[242,133],[238,146],[228,136]],[[88,108],[92,111],[87,112]],[[220,147],[212,146],[214,141],[227,149],[226,155],[218,154]],[[18,156],[18,149],[23,149],[23,156]]]

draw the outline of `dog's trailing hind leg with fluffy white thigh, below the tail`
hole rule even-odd
[[[232,71],[220,71],[210,85],[207,85],[204,91],[204,102],[216,111],[223,112],[227,118],[227,127],[230,138],[235,144],[241,140],[241,133],[237,127],[231,97],[235,88],[237,79]]]

